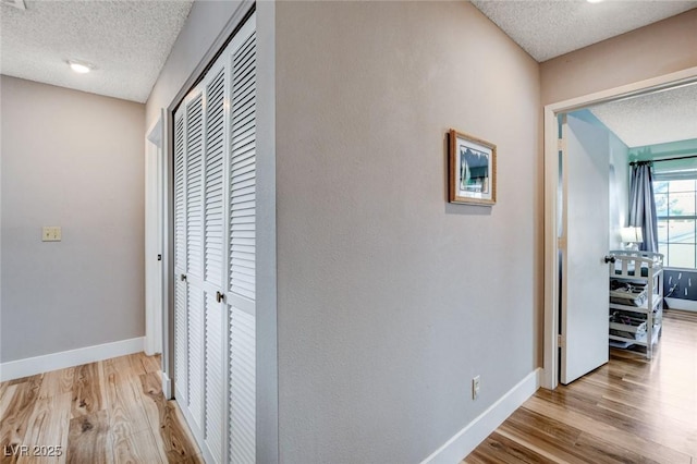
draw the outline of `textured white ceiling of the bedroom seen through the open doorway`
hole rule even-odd
[[[599,105],[590,111],[631,148],[697,138],[697,84]]]

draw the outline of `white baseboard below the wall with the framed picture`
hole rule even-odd
[[[537,391],[542,369],[537,368],[521,380],[487,411],[460,430],[421,464],[457,464],[494,431],[515,410]]]

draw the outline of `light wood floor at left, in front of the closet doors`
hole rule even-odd
[[[0,463],[201,463],[159,366],[140,353],[0,383]]]

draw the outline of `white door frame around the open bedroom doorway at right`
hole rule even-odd
[[[592,105],[635,98],[697,82],[697,66],[545,106],[545,331],[541,386],[559,384],[559,243],[557,228],[559,188],[558,120],[562,113]]]

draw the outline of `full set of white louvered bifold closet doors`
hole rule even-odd
[[[175,398],[206,462],[254,463],[255,16],[174,115]]]

